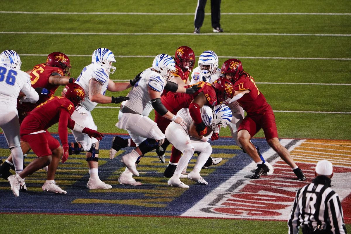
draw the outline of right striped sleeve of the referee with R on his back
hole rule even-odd
[[[346,227],[343,218],[343,209],[341,207],[340,199],[337,194],[332,196],[328,202],[329,206],[329,218],[332,233],[346,233]]]

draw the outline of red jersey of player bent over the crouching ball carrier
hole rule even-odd
[[[163,105],[168,109],[168,111],[172,112],[173,114],[177,114],[177,112],[181,108],[188,108],[192,100],[199,94],[204,93],[207,99],[208,106],[216,106],[217,105],[217,95],[216,91],[214,90],[213,86],[210,83],[200,81],[197,82],[195,85],[200,85],[200,89],[193,94],[187,93],[173,93],[168,92],[166,95],[161,96],[161,101]],[[187,85],[184,88],[188,88],[192,85]]]

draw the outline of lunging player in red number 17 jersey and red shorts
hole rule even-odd
[[[221,73],[227,79],[234,81],[235,94],[232,100],[237,100],[246,111],[238,129],[238,140],[245,152],[256,162],[257,169],[251,179],[258,179],[269,171],[267,165],[259,157],[250,139],[263,129],[266,141],[292,169],[299,180],[306,180],[302,170],[296,165],[289,151],[280,144],[276,120],[272,107],[267,103],[263,94],[257,88],[254,79],[244,71],[241,61],[229,59],[223,63]]]

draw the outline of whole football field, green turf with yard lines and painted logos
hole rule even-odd
[[[117,181],[124,170],[120,156],[131,149],[120,151],[114,160],[108,158],[113,135],[127,137],[126,131],[115,127],[119,105],[99,104],[92,112],[98,131],[106,133],[99,175],[113,188],[85,187],[89,175],[84,154],[71,155],[59,165],[56,181],[66,195],[42,193],[44,170],[28,176],[29,191],[18,198],[0,178],[1,234],[24,229],[28,230],[24,233],[287,233],[296,190],[311,182],[315,163],[322,159],[333,162],[333,189],[342,199],[347,229],[351,228],[351,2],[222,0],[224,33],[212,33],[209,2],[201,33],[194,35],[194,0],[4,1],[0,50],[18,52],[23,71],[60,51],[69,56],[72,76],[77,78],[91,62],[92,52],[106,47],[117,60],[117,70],[110,75],[114,81],[134,78],[151,67],[155,55],[173,56],[179,46],[191,47],[196,58],[205,50],[216,52],[219,67],[229,58],[240,59],[273,108],[281,143],[308,180],[295,180],[261,131],[254,141],[275,172],[251,181],[255,165],[225,128],[213,142],[213,156],[223,162],[201,171],[208,186],[183,179],[189,189],[168,187],[162,176],[165,165],[155,153],[148,153],[138,166],[141,174],[135,179],[143,185],[122,186]],[[62,87],[56,95],[61,91]],[[49,131],[57,133],[57,125]],[[1,134],[0,159],[8,154]],[[167,151],[166,162],[169,156]],[[29,154],[26,163],[34,158]]]

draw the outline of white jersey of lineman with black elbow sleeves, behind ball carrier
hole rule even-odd
[[[148,116],[153,109],[148,88],[150,87],[153,90],[162,93],[166,81],[160,74],[152,71],[151,68],[147,68],[140,74],[140,76],[140,80],[128,93],[127,97],[130,99],[125,102],[124,106],[128,107],[135,113]]]

